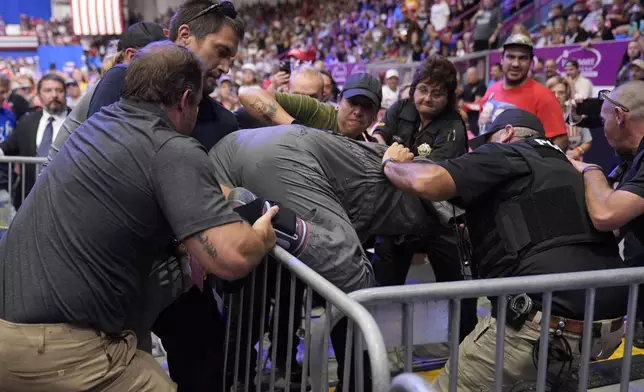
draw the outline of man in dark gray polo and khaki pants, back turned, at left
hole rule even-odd
[[[277,210],[243,222],[189,136],[203,72],[172,43],[139,51],[123,98],[81,125],[39,177],[0,241],[3,390],[176,390],[126,330],[155,257],[174,237],[234,280],[274,246]]]

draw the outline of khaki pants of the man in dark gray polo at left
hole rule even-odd
[[[157,361],[126,331],[108,338],[68,324],[0,320],[0,389],[30,391],[176,391]]]

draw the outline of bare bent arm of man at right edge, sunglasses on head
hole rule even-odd
[[[588,170],[583,176],[588,213],[597,230],[617,230],[644,214],[644,198],[628,191],[613,190],[600,170]]]

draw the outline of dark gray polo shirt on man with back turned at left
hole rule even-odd
[[[241,220],[211,165],[160,107],[103,108],[70,136],[0,241],[0,318],[121,332],[173,234]]]

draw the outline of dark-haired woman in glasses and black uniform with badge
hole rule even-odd
[[[439,55],[428,57],[416,70],[409,98],[394,103],[374,130],[381,143],[398,142],[415,155],[434,162],[467,152],[467,131],[456,107],[456,67]],[[382,286],[403,285],[415,253],[429,256],[436,280],[462,280],[457,237],[446,230],[429,240],[419,237],[377,237],[373,260],[376,280]],[[476,300],[465,301],[461,337],[476,324]]]

